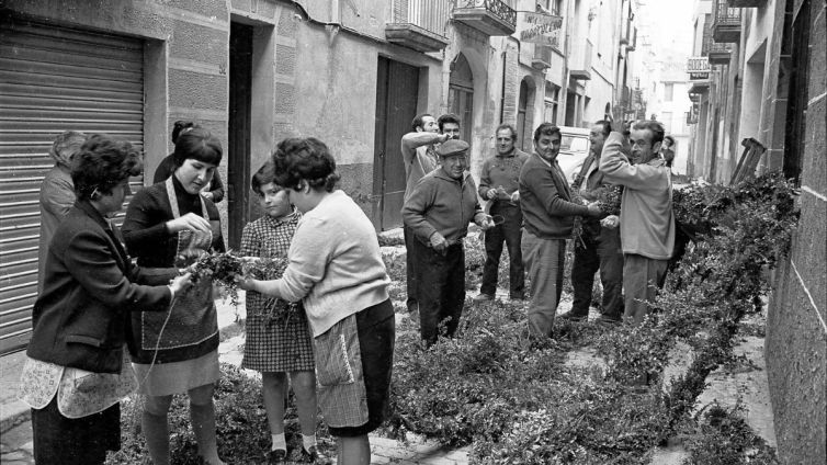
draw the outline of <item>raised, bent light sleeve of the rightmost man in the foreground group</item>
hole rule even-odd
[[[638,191],[662,188],[660,170],[649,165],[630,163],[621,152],[622,147],[623,135],[612,132],[605,139],[600,156],[600,171],[603,172],[605,181]]]

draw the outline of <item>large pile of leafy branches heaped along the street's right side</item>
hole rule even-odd
[[[775,173],[679,195],[679,219],[703,231],[644,324],[598,332],[604,372],[566,368],[567,348],[530,340],[510,304],[466,307],[461,336],[430,350],[401,338],[393,432],[473,443],[480,463],[645,461],[686,420],[706,375],[726,361],[738,320],[768,291],[766,270],[786,252],[797,220],[795,195]],[[659,377],[678,340],[698,355],[664,394]]]

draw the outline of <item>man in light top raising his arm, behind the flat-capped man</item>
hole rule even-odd
[[[437,120],[430,114],[423,113],[417,115],[411,122],[410,133],[403,136],[401,152],[403,161],[405,162],[405,196],[404,202],[408,200],[414,188],[417,185],[420,179],[437,168],[437,151],[435,146],[445,141],[449,137],[439,133],[439,125]],[[407,293],[408,299],[406,305],[408,311],[414,311],[418,308],[417,303],[417,272],[416,257],[414,257],[415,248],[411,246],[414,232],[408,226],[403,228],[405,234],[405,250],[406,250],[406,280],[407,280]]]

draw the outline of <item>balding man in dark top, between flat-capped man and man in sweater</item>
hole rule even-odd
[[[488,213],[501,216],[502,224],[495,225],[485,234],[485,266],[483,284],[475,300],[491,300],[497,291],[497,271],[500,266],[502,241],[508,247],[510,261],[509,287],[512,299],[525,298],[525,269],[520,250],[520,170],[529,159],[529,154],[514,147],[517,132],[510,124],[497,127],[497,154],[485,160],[479,173],[479,196],[489,202]]]

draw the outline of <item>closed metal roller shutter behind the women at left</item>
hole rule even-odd
[[[143,149],[143,68],[139,39],[0,18],[0,354],[31,336],[48,149],[68,129]]]

